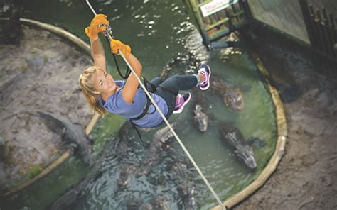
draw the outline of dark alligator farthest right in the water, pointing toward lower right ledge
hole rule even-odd
[[[255,170],[257,163],[253,150],[250,145],[245,143],[245,138],[242,136],[241,131],[228,123],[222,123],[220,131],[225,140],[235,148],[235,155],[245,162],[245,165],[247,165],[250,170]]]

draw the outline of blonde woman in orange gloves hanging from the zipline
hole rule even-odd
[[[82,93],[92,109],[99,114],[105,115],[107,111],[120,114],[142,128],[159,126],[164,121],[159,111],[147,99],[144,90],[139,88],[139,82],[134,74],[130,74],[127,81],[124,82],[114,80],[107,73],[105,52],[97,35],[105,31],[105,27],[102,27],[104,24],[109,25],[107,16],[98,14],[92,19],[90,26],[85,28],[85,33],[90,38],[94,66],[87,68],[80,75]],[[117,55],[121,50],[137,76],[141,76],[141,63],[137,57],[131,54],[131,48],[128,45],[124,45],[119,40],[112,40],[110,48]],[[169,118],[172,113],[181,113],[183,107],[191,99],[189,92],[185,92],[183,95],[178,94],[180,90],[188,90],[193,87],[208,89],[210,68],[208,65],[202,64],[198,75],[175,75],[165,81],[161,77],[156,77],[151,81],[151,84],[157,87],[155,92],[151,94],[152,98],[166,118]],[[150,92],[151,90],[153,89],[149,87]]]

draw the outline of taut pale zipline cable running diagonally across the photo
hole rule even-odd
[[[92,12],[95,14],[95,16],[97,15],[97,13],[95,12],[95,10],[92,8],[89,0],[86,0],[87,4],[89,5],[90,9],[92,10]],[[112,35],[110,35],[109,33],[105,33],[105,35],[107,36],[107,38],[111,41],[113,38]],[[212,192],[213,196],[215,197],[215,199],[218,201],[218,203],[220,204],[220,206],[222,207],[223,210],[226,210],[225,205],[221,202],[221,200],[218,197],[218,194],[215,193],[214,189],[212,186],[210,186],[210,183],[208,182],[208,180],[206,179],[206,177],[203,175],[203,172],[201,172],[200,168],[198,167],[198,165],[196,164],[196,162],[193,160],[193,157],[190,155],[190,153],[188,152],[188,150],[186,149],[185,145],[183,145],[183,143],[181,142],[181,139],[179,138],[179,136],[176,134],[176,131],[173,130],[172,126],[170,125],[169,121],[167,121],[165,115],[161,112],[161,109],[159,109],[159,106],[156,104],[156,101],[154,101],[154,99],[152,99],[151,94],[149,94],[149,92],[147,91],[146,87],[144,86],[144,84],[141,82],[141,79],[139,79],[138,75],[136,72],[134,72],[134,69],[132,68],[132,66],[129,64],[129,62],[127,61],[127,59],[124,57],[123,53],[121,50],[118,50],[119,54],[122,56],[123,60],[125,63],[127,63],[127,66],[129,67],[129,69],[131,70],[132,74],[134,74],[134,77],[137,78],[141,88],[144,90],[145,94],[149,97],[149,99],[151,100],[152,104],[154,104],[154,106],[156,107],[156,109],[158,110],[159,114],[161,115],[161,118],[163,118],[164,122],[166,123],[166,125],[169,127],[170,131],[173,133],[173,136],[176,138],[176,140],[178,141],[178,143],[181,145],[181,148],[183,148],[183,151],[186,153],[188,159],[190,159],[190,161],[192,162],[193,166],[196,168],[196,170],[198,171],[200,177],[203,179],[203,182],[205,182],[205,184],[207,185],[208,189],[210,189],[210,192]]]

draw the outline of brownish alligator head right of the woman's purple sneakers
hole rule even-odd
[[[242,92],[238,88],[229,87],[223,94],[223,101],[226,106],[230,106],[237,111],[242,111],[244,108]]]

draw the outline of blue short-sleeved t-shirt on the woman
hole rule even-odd
[[[134,95],[134,99],[132,100],[132,104],[129,104],[124,101],[121,92],[125,85],[125,82],[123,80],[115,80],[114,82],[119,86],[119,89],[117,89],[114,94],[109,96],[109,99],[107,99],[107,101],[104,101],[102,98],[100,98],[100,104],[105,109],[107,109],[107,111],[113,114],[120,114],[127,119],[139,116],[143,112],[147,101],[144,90],[141,88],[137,89],[137,92]],[[161,109],[163,114],[166,116],[169,112],[166,101],[159,95],[151,94],[151,96],[156,104],[158,104],[159,109]],[[135,123],[137,126],[141,126],[142,128],[151,128],[158,126],[163,121],[163,118],[161,118],[159,111],[156,110],[153,104],[150,105],[147,113],[148,114],[146,114],[143,118],[132,122]]]

